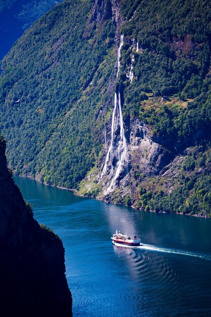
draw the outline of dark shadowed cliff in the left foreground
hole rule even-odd
[[[0,136],[0,304],[2,316],[71,316],[64,248],[33,219],[7,169]]]

